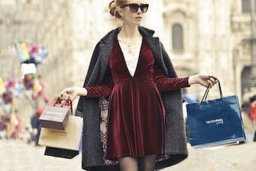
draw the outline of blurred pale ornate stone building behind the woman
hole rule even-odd
[[[21,77],[14,40],[40,42],[49,51],[38,74],[53,98],[69,86],[81,86],[96,43],[120,21],[109,14],[110,1],[0,0],[0,74]],[[255,92],[256,0],[148,0],[142,26],[155,30],[178,75],[208,73],[222,83],[224,96],[240,101]],[[254,12],[254,13],[253,13]],[[201,98],[205,88],[185,93]],[[218,97],[218,89],[210,92]],[[44,105],[42,101],[39,105]],[[33,113],[24,100],[22,115]]]

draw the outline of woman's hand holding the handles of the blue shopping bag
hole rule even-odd
[[[208,87],[210,84],[210,88],[212,88],[217,82],[218,79],[213,75],[208,74],[196,74],[189,77],[189,85],[199,84],[205,87]]]

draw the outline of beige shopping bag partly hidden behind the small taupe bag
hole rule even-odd
[[[38,144],[58,149],[79,150],[82,134],[82,117],[71,115],[66,129],[42,128]]]

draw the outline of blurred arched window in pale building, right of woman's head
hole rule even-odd
[[[172,45],[174,51],[183,50],[183,29],[180,24],[172,26]]]

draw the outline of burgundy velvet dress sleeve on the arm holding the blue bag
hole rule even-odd
[[[188,77],[185,78],[169,78],[157,62],[154,62],[154,82],[158,86],[160,92],[174,91],[189,87]]]

